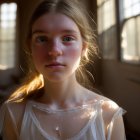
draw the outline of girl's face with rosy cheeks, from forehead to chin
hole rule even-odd
[[[47,81],[75,76],[85,49],[78,26],[64,14],[45,14],[32,26],[33,62]]]

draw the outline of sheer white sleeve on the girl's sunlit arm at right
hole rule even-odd
[[[120,127],[120,130],[118,130],[118,131],[119,131],[119,133],[120,132],[122,133],[121,135],[123,135],[123,140],[126,140],[124,124],[123,124],[123,119],[122,119],[122,116],[125,113],[126,113],[126,111],[124,109],[122,109],[121,107],[119,107],[119,109],[115,112],[115,114],[113,115],[113,117],[111,119],[111,122],[108,124],[108,127],[107,127],[107,130],[108,130],[107,140],[111,140],[114,126],[117,126],[118,128]],[[119,126],[119,125],[121,125],[121,126]],[[122,131],[121,131],[121,129],[122,129]],[[116,135],[118,135],[118,134],[116,134]]]

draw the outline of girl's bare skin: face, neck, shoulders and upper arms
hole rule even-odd
[[[76,81],[75,71],[79,66],[80,58],[84,55],[86,44],[75,22],[60,13],[41,16],[33,24],[30,45],[34,65],[43,74],[45,80],[45,94],[37,101],[47,104],[50,109],[69,109],[103,100],[102,110],[107,136],[108,124],[119,107],[113,101],[83,88]],[[11,110],[16,114],[14,117],[17,121],[18,133],[20,133],[25,105],[26,102],[11,103]],[[4,128],[4,138],[16,140],[8,111],[5,120],[7,123]],[[114,123],[111,140],[124,140],[122,117],[118,117]]]

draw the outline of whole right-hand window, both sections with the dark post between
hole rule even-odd
[[[97,0],[104,59],[140,63],[140,0]]]

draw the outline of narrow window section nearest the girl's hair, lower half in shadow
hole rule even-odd
[[[115,0],[97,0],[99,46],[104,59],[117,57]]]

